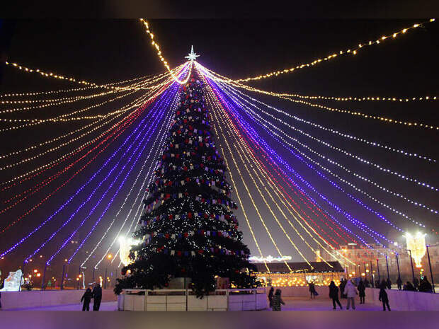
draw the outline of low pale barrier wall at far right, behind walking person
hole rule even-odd
[[[390,309],[394,311],[439,311],[439,294],[387,290]],[[380,289],[366,288],[366,300],[382,306]]]

